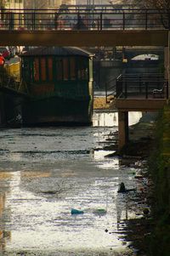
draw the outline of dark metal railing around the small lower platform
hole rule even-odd
[[[168,82],[163,74],[125,74],[116,79],[116,98],[167,99]],[[161,94],[154,94],[160,90]],[[162,94],[163,93],[163,94]]]

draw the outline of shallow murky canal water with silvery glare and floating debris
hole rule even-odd
[[[117,190],[136,169],[103,150],[116,130],[116,113],[94,113],[90,128],[0,131],[0,255],[133,255],[121,234],[136,211]]]

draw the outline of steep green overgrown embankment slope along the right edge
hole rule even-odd
[[[154,182],[155,228],[150,238],[150,254],[170,254],[170,105],[161,111],[156,126],[156,145],[150,157]]]

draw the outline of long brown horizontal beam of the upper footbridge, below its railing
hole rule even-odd
[[[168,31],[3,31],[0,45],[25,46],[167,46]]]

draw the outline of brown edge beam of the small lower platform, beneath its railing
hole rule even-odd
[[[116,99],[118,111],[158,111],[166,105],[165,99],[127,100]]]

